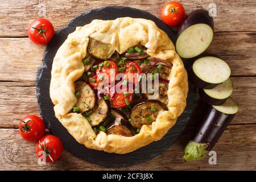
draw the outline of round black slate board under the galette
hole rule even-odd
[[[49,131],[51,131],[53,135],[59,137],[61,142],[63,142],[64,147],[72,154],[88,162],[108,167],[131,166],[133,164],[145,162],[159,155],[170,147],[177,137],[180,136],[195,107],[196,91],[194,88],[189,86],[187,107],[184,113],[179,117],[175,126],[168,131],[164,138],[158,142],[153,142],[148,146],[139,148],[134,152],[123,155],[109,154],[107,152],[86,148],[82,144],[79,144],[55,118],[53,104],[49,97],[49,84],[51,80],[52,61],[57,49],[67,38],[68,34],[75,31],[77,26],[84,26],[85,24],[90,23],[93,19],[111,20],[125,16],[130,16],[132,18],[145,18],[154,21],[159,28],[168,34],[172,42],[175,43],[176,35],[174,31],[150,13],[130,7],[102,7],[101,9],[94,9],[77,16],[71,20],[67,26],[56,32],[44,52],[43,64],[39,67],[36,75],[36,96],[38,99],[39,111]]]

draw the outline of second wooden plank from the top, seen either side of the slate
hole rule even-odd
[[[222,57],[233,76],[256,76],[256,34],[217,33],[208,52]],[[45,46],[28,38],[0,38],[0,81],[35,82]]]

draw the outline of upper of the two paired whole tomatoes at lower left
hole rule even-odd
[[[27,141],[37,142],[44,136],[46,126],[37,115],[26,115],[20,120],[19,133]]]

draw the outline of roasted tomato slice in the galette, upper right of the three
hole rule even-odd
[[[127,61],[123,66],[125,70],[122,73],[125,73],[125,80],[135,84],[141,75],[141,67],[134,61]]]

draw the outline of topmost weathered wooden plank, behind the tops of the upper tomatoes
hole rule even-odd
[[[160,11],[165,0],[126,0],[126,1],[84,1],[84,0],[2,0],[0,3],[0,36],[27,36],[27,27],[32,19],[45,17],[49,19],[55,30],[64,27],[69,20],[85,11],[103,6],[129,6],[148,11],[160,18]],[[256,2],[254,0],[194,0],[180,1],[183,3],[186,13],[192,10],[204,8],[209,10],[210,3],[216,3],[217,16],[214,17],[214,31],[256,31],[255,13]],[[44,15],[44,7],[46,7]],[[248,23],[250,20],[250,23]],[[18,22],[18,23],[17,23]]]

